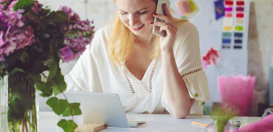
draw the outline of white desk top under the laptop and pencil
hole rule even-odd
[[[137,128],[113,128],[101,130],[100,132],[204,132],[205,127],[190,124],[186,120],[198,121],[209,124],[212,122],[208,116],[187,116],[184,119],[175,119],[171,115],[157,114],[126,114],[128,120],[147,121],[145,124],[140,124]],[[53,112],[39,113],[39,130],[40,132],[57,132],[58,116]],[[254,123],[260,120],[260,117],[234,117],[234,122],[241,121],[241,124]],[[60,128],[62,129],[62,128]]]

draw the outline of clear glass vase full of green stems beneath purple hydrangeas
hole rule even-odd
[[[39,107],[35,93],[34,81],[28,77],[8,77],[9,132],[38,132]]]

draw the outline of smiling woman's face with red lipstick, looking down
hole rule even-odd
[[[137,36],[146,35],[153,28],[153,13],[156,3],[153,0],[116,0],[116,6],[123,24]]]

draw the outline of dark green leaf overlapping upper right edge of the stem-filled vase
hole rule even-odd
[[[37,90],[42,91],[41,96],[43,97],[48,97],[52,95],[52,86],[53,84],[49,81],[47,81],[46,83],[35,82],[35,87],[37,88]]]

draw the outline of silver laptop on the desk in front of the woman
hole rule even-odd
[[[129,121],[120,98],[113,93],[90,93],[64,91],[69,103],[79,102],[83,123],[105,124],[107,127],[137,127],[145,121]],[[63,99],[63,95],[57,96]]]

